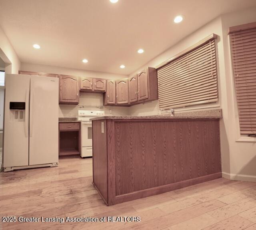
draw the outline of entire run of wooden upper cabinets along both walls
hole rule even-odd
[[[19,74],[59,77],[60,104],[78,104],[79,91],[103,93],[104,105],[135,105],[158,99],[157,71],[152,67],[116,81],[30,71],[19,71]]]

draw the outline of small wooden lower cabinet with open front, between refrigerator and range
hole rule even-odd
[[[59,123],[59,156],[79,155],[80,122]]]

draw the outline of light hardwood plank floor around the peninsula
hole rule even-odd
[[[140,222],[0,222],[4,230],[256,230],[256,183],[219,178],[106,206],[92,186],[92,159],[0,173],[0,216],[140,216]]]

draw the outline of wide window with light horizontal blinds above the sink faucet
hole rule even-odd
[[[156,67],[160,109],[218,101],[216,37],[212,34]]]

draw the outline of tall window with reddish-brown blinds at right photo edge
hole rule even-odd
[[[256,23],[229,30],[240,133],[256,134]]]

